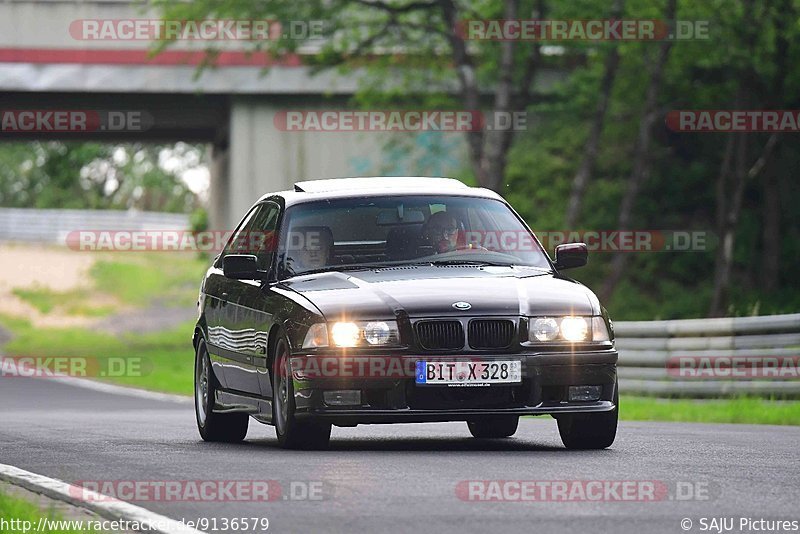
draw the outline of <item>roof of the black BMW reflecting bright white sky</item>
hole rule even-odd
[[[371,176],[328,178],[296,182],[294,190],[268,193],[259,202],[281,196],[290,204],[328,198],[355,198],[393,195],[453,195],[503,200],[490,189],[470,187],[455,178],[425,176]]]

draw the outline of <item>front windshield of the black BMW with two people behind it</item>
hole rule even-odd
[[[322,200],[286,211],[281,277],[414,263],[550,269],[544,251],[505,204],[459,196]]]

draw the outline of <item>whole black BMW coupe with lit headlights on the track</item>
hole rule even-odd
[[[617,351],[594,293],[564,276],[497,193],[447,178],[299,182],[260,198],[200,287],[195,411],[208,441],[249,418],[287,448],[331,425],[465,421],[476,438],[551,415],[568,448],[611,445]]]

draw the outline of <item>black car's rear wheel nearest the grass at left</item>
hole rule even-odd
[[[214,399],[218,388],[206,342],[201,339],[197,343],[194,358],[194,413],[197,430],[205,441],[238,443],[247,435],[250,417],[246,413],[215,413]]]

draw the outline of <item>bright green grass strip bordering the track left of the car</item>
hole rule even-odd
[[[83,328],[34,328],[25,320],[0,317],[13,339],[12,357],[69,357],[89,378],[154,391],[191,395],[194,380],[193,323],[152,334],[114,336]]]

